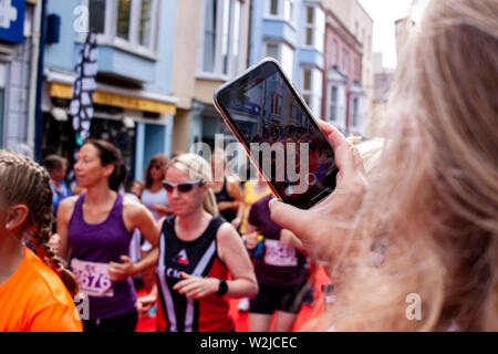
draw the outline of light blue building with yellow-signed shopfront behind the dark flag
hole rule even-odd
[[[133,179],[142,179],[153,155],[170,156],[176,6],[175,0],[48,0],[55,24],[49,21],[52,40],[44,46],[42,156],[73,158],[68,104],[89,30],[97,33],[98,55],[91,136],[122,150]]]

